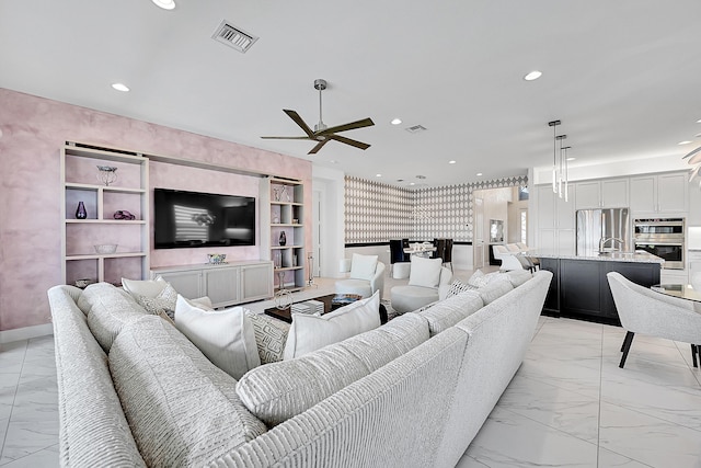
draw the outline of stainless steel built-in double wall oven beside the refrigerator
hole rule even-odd
[[[683,218],[643,218],[633,222],[635,250],[665,259],[663,269],[683,270]]]

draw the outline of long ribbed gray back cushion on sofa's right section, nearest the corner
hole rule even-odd
[[[428,323],[405,313],[366,333],[296,359],[257,367],[237,384],[246,408],[268,426],[300,414],[428,340]],[[313,385],[312,385],[313,383]]]

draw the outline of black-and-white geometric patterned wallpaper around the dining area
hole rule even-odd
[[[345,242],[409,238],[472,240],[475,190],[528,185],[528,176],[410,190],[345,178]]]

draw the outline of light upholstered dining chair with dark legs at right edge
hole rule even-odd
[[[701,311],[696,310],[693,301],[656,293],[629,281],[617,272],[608,273],[606,276],[621,326],[627,331],[621,346],[623,355],[619,367],[622,368],[625,365],[635,333],[691,343],[693,367],[699,366]]]

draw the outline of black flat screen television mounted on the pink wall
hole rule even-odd
[[[255,198],[153,189],[156,249],[255,246]]]

